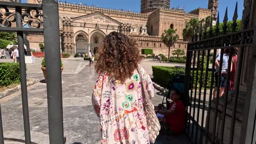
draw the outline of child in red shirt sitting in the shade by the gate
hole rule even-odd
[[[181,98],[181,93],[176,89],[171,90],[170,98],[169,110],[156,110],[156,113],[160,113],[166,117],[165,121],[160,121],[160,133],[179,134],[184,131],[185,107],[182,101],[179,100]]]

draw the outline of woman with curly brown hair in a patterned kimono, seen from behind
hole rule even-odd
[[[101,143],[149,143],[141,81],[151,98],[154,87],[139,65],[136,41],[112,32],[103,40],[97,58],[95,68],[99,75],[92,105],[100,117]]]

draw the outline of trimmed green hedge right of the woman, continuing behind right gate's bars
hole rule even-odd
[[[161,67],[161,66],[153,66],[153,81],[158,83],[158,85],[160,85],[161,87],[168,87],[169,84],[169,80],[172,79],[172,77],[174,75],[176,75],[177,73],[185,73],[185,69],[184,68],[176,68],[176,67]],[[197,88],[199,88],[200,86],[200,74],[201,71],[198,71],[198,80],[197,80]],[[192,76],[192,71],[190,73],[190,75]],[[202,87],[205,86],[205,75],[206,75],[206,71],[203,71],[203,79],[202,79]],[[208,71],[208,79],[207,79],[207,88],[211,87],[211,76],[212,76],[212,71]],[[193,76],[194,80],[193,80],[193,87],[195,87],[195,83],[196,83],[196,70],[194,71],[194,76]],[[213,82],[215,82],[215,80],[213,79]],[[214,85],[213,85],[214,86]]]

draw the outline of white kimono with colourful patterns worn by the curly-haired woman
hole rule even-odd
[[[138,65],[150,97],[154,87],[147,72]],[[141,79],[137,70],[123,84],[108,74],[98,76],[92,94],[92,105],[100,117],[101,143],[149,144],[146,115],[142,104]]]

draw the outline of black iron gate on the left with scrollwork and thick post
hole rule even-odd
[[[43,0],[40,4],[27,4],[21,3],[21,0],[15,0],[15,2],[0,2],[0,8],[4,11],[0,14],[0,31],[16,32],[18,38],[25,142],[32,143],[27,99],[24,33],[33,32],[44,33],[50,143],[64,143],[58,3],[54,0]],[[29,49],[27,53],[30,54]],[[0,143],[4,143],[1,117]]]

